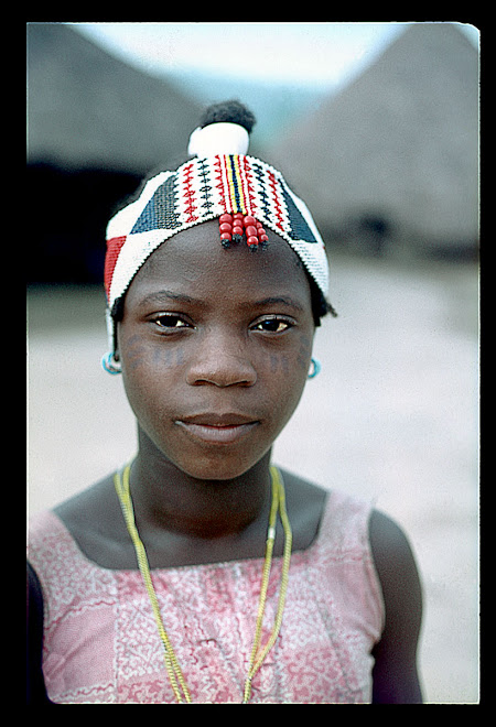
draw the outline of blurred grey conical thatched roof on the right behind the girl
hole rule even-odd
[[[270,159],[336,237],[364,215],[398,240],[478,240],[478,53],[455,24],[410,25]]]

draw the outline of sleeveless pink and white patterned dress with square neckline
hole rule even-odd
[[[370,650],[384,603],[368,541],[370,508],[331,492],[319,535],[291,560],[278,640],[250,703],[368,703]],[[29,560],[44,595],[43,672],[55,703],[169,704],[174,695],[139,571],[90,562],[53,512],[30,529]],[[152,571],[165,629],[194,703],[242,698],[263,561]],[[274,558],[262,643],[277,610]]]

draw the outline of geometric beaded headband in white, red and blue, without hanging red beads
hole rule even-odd
[[[162,242],[226,213],[250,215],[282,237],[326,295],[327,258],[304,203],[281,173],[261,160],[217,154],[192,159],[175,172],[161,172],[110,220],[105,263],[109,310]]]

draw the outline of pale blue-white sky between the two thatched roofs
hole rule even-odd
[[[347,83],[407,26],[396,22],[72,24],[148,73],[202,69],[250,80],[330,87]],[[462,28],[477,45],[477,31]]]

